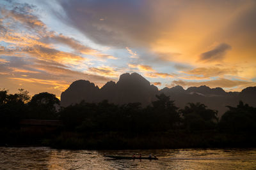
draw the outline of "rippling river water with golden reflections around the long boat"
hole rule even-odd
[[[159,160],[113,160],[141,153]],[[0,147],[1,169],[256,169],[256,149],[55,150]]]

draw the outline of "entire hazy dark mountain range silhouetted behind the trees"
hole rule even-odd
[[[211,89],[205,85],[189,87],[187,90],[179,85],[158,90],[138,73],[122,74],[116,83],[108,81],[101,89],[90,81],[74,81],[61,93],[61,106],[69,106],[81,101],[99,103],[103,100],[115,104],[141,103],[142,106],[147,106],[161,93],[170,96],[179,108],[184,108],[188,103],[199,102],[212,110],[218,110],[220,116],[227,111],[226,106],[236,106],[240,100],[250,106],[256,106],[256,87],[247,87],[241,92],[225,92],[220,87]]]

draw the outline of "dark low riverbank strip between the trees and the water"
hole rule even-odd
[[[256,148],[256,135],[222,132],[57,132],[1,134],[1,146],[49,146],[71,150]]]

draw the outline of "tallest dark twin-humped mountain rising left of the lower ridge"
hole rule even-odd
[[[126,104],[141,103],[147,106],[156,99],[158,89],[138,73],[122,74],[115,83],[108,81],[101,89],[94,83],[86,80],[74,81],[65,92],[61,93],[61,105],[85,101],[88,103],[97,103],[108,100],[110,103]]]

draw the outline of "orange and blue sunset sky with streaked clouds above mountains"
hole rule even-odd
[[[158,89],[256,86],[256,1],[0,1],[0,90],[102,87],[139,73]]]

